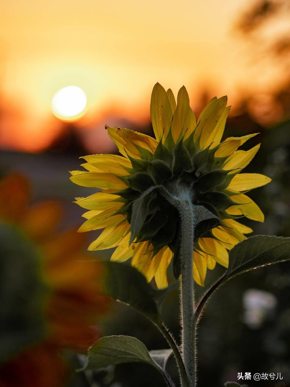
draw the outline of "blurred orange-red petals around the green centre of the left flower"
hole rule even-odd
[[[30,191],[23,175],[4,177],[0,220],[20,229],[37,247],[39,279],[46,293],[41,299],[43,310],[34,313],[43,315],[45,332],[40,342],[22,348],[0,366],[0,387],[63,386],[68,373],[63,349],[81,352],[96,341],[99,334],[92,325],[109,305],[99,286],[101,265],[81,251],[84,236],[75,229],[60,232],[60,203],[29,205]]]

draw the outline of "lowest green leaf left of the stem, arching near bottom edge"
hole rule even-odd
[[[122,363],[149,364],[162,374],[167,386],[173,385],[167,373],[150,356],[143,342],[131,336],[107,336],[96,341],[89,348],[87,363],[79,371],[94,370]]]

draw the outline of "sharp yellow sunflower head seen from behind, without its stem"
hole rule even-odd
[[[239,223],[246,216],[264,221],[258,205],[244,192],[271,181],[257,173],[241,173],[260,144],[237,150],[256,134],[221,142],[230,106],[227,97],[214,97],[196,121],[185,87],[177,95],[160,84],[152,91],[150,115],[156,139],[133,130],[110,128],[108,135],[122,156],[84,156],[86,171],[72,171],[70,179],[84,187],[100,188],[76,203],[89,210],[78,231],[102,229],[89,250],[116,247],[111,260],[131,264],[158,288],[167,286],[167,267],[178,245],[179,214],[171,198],[178,187],[189,192],[196,209],[212,219],[196,226],[193,276],[204,286],[207,269],[228,267],[230,250],[252,229]],[[179,188],[178,188],[179,189]]]

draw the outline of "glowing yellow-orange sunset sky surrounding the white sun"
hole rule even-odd
[[[271,87],[279,74],[249,66],[246,45],[232,32],[244,0],[13,0],[0,15],[0,143],[41,149],[58,131],[51,98],[81,87],[87,125],[109,106],[136,122],[148,117],[155,82],[192,105],[211,87],[234,103],[241,90]]]

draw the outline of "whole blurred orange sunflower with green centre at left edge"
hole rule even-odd
[[[69,377],[63,351],[84,352],[96,341],[93,325],[109,303],[101,265],[81,250],[83,236],[56,233],[61,205],[29,199],[24,176],[0,181],[0,386],[60,387]]]

